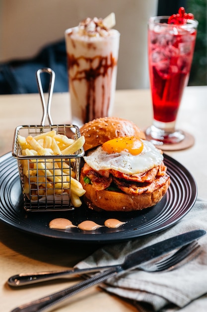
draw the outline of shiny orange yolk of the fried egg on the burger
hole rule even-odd
[[[102,149],[108,154],[125,151],[132,155],[138,155],[143,150],[143,142],[138,137],[117,138],[105,142]]]

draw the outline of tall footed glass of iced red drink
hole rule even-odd
[[[177,113],[191,70],[198,21],[168,24],[169,16],[148,23],[148,63],[153,123],[146,137],[156,145],[176,144],[184,134],[175,129]]]

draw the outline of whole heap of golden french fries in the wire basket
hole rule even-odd
[[[76,179],[76,173],[70,166],[75,158],[44,158],[35,156],[72,155],[82,148],[84,137],[76,141],[65,135],[57,134],[55,130],[41,133],[35,137],[29,135],[24,138],[18,136],[22,156],[31,156],[21,159],[23,168],[24,189],[31,200],[37,201],[42,196],[60,195],[68,193],[75,207],[81,205],[81,197],[85,190]]]

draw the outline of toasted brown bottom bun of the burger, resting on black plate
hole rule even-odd
[[[83,200],[88,208],[97,211],[134,211],[157,204],[166,193],[170,185],[170,178],[166,180],[164,185],[153,192],[138,195],[109,190],[96,191],[91,184],[84,182],[83,174],[80,174],[80,183],[86,191],[83,195]]]

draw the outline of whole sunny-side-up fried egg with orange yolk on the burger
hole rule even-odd
[[[96,171],[114,169],[129,175],[161,164],[163,155],[151,142],[139,138],[130,141],[129,137],[110,140],[83,158]]]

